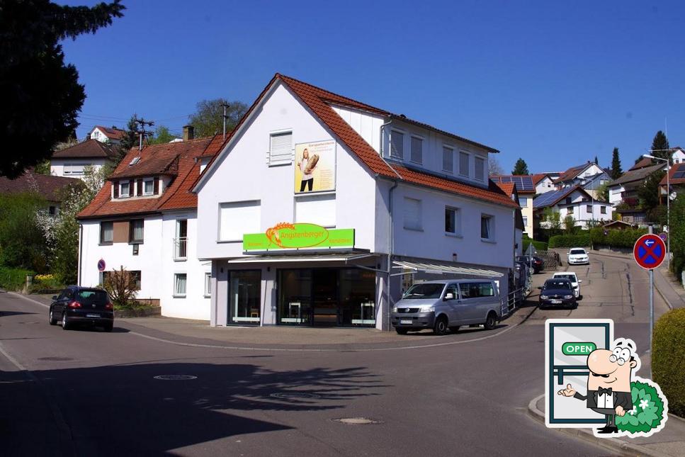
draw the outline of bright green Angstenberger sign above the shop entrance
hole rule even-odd
[[[316,224],[281,222],[268,228],[264,233],[246,233],[242,237],[242,246],[246,252],[354,247],[354,229],[328,230]]]

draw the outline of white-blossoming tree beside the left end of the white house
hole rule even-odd
[[[79,222],[77,214],[88,205],[105,183],[111,168],[84,167],[82,182],[69,186],[62,195],[60,214],[55,223],[55,251],[52,273],[63,284],[77,282],[79,266]]]

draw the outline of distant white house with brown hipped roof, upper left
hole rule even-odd
[[[105,164],[112,163],[116,154],[107,143],[86,140],[53,153],[50,174],[83,179],[86,167],[93,167],[97,171]]]

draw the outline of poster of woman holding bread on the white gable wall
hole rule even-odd
[[[335,190],[335,141],[295,145],[295,193]]]

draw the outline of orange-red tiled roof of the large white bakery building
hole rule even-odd
[[[370,113],[375,113],[378,115],[383,115],[389,118],[401,119],[404,122],[417,123],[417,121],[408,120],[401,115],[394,115],[389,111],[385,111],[375,106],[367,105],[366,103],[361,103],[359,101],[353,100],[352,98],[347,98],[338,94],[334,94],[331,91],[325,89],[320,89],[319,87],[312,86],[297,79],[283,76],[282,74],[276,73],[274,77],[269,81],[264,90],[256,98],[252,106],[242,119],[239,121],[236,128],[231,132],[231,135],[227,137],[228,144],[230,140],[235,136],[237,137],[237,132],[241,131],[242,126],[251,114],[255,111],[256,107],[259,106],[261,100],[266,96],[268,91],[276,84],[278,81],[283,83],[287,89],[289,89],[296,98],[298,98],[312,113],[321,120],[324,125],[329,128],[339,141],[344,143],[349,150],[356,154],[356,156],[361,160],[361,162],[371,171],[373,174],[378,176],[383,176],[389,179],[398,179],[411,184],[417,184],[419,186],[427,186],[431,188],[436,188],[442,191],[448,191],[451,193],[458,193],[463,196],[468,196],[472,198],[480,198],[491,203],[498,203],[507,206],[516,206],[517,204],[512,202],[507,198],[501,189],[499,189],[494,184],[489,184],[488,188],[480,188],[479,186],[474,186],[470,184],[465,184],[460,181],[452,181],[450,179],[443,178],[441,176],[436,176],[424,171],[417,171],[415,169],[408,169],[407,167],[402,167],[400,165],[390,165],[383,159],[383,157],[378,154],[378,152],[371,147],[371,145],[366,142],[366,140],[359,135],[356,130],[354,130],[351,125],[345,122],[343,118],[340,117],[338,113],[332,108],[332,105],[347,106],[349,108],[356,108],[362,111],[368,111]],[[424,126],[424,128],[431,128],[432,130],[440,131],[436,128],[432,128],[429,125],[417,123]],[[446,133],[447,134],[447,133]],[[448,134],[453,137],[457,135]],[[472,145],[477,145],[478,147],[483,147],[491,152],[498,152],[497,149],[492,149],[490,147],[480,145],[477,142],[471,140],[466,140],[461,137],[460,140],[469,142]],[[202,181],[204,176],[208,174],[208,171],[212,169],[214,162],[220,154],[216,154],[210,161],[208,166],[205,168],[203,174],[201,174],[196,182],[193,184],[193,189],[196,188],[198,184]]]

